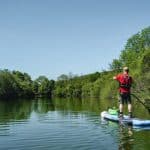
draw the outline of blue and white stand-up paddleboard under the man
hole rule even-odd
[[[110,114],[108,111],[101,112],[101,117],[114,122],[124,122],[129,125],[139,126],[139,127],[150,127],[150,120],[143,120],[138,118],[129,118],[124,115],[123,118],[119,118],[117,114]]]

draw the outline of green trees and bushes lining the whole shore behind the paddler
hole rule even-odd
[[[120,57],[110,64],[109,71],[83,76],[61,75],[57,81],[40,76],[31,80],[27,73],[0,70],[0,98],[35,96],[99,97],[116,96],[118,84],[112,77],[122,66],[128,66],[134,78],[132,91],[143,98],[150,95],[150,27],[128,39]]]

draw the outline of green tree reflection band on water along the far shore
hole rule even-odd
[[[9,100],[0,101],[0,122],[5,123],[11,120],[26,120],[30,117],[31,112],[37,114],[46,114],[49,111],[61,111],[67,115],[70,111],[72,113],[79,113],[79,111],[90,111],[99,114],[100,108],[106,105],[107,101],[99,99],[36,99],[36,100]]]

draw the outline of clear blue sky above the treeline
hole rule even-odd
[[[0,68],[45,75],[107,70],[150,25],[149,0],[1,0]]]

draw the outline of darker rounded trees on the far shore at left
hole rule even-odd
[[[0,98],[46,96],[51,97],[54,80],[40,76],[35,81],[27,73],[19,71],[0,71]]]

